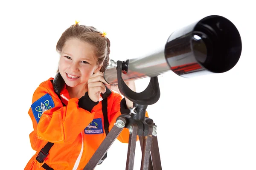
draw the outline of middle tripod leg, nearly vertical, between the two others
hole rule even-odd
[[[131,131],[132,130],[132,131]],[[127,160],[126,160],[126,169],[125,170],[133,170],[134,168],[134,156],[135,156],[135,148],[137,142],[137,130],[138,125],[131,125],[130,136],[129,136],[129,144],[128,144],[128,152],[127,152]]]

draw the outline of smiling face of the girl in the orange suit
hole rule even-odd
[[[67,40],[59,60],[59,72],[70,87],[87,83],[90,76],[100,70],[94,47],[79,39]]]

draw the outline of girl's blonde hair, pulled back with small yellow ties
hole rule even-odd
[[[57,42],[56,51],[61,54],[65,42],[72,38],[78,38],[79,40],[87,42],[95,47],[94,54],[97,57],[97,65],[102,65],[100,71],[104,72],[109,62],[109,39],[102,36],[102,33],[93,26],[74,24],[62,33]]]

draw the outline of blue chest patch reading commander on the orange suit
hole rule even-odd
[[[103,133],[102,119],[93,119],[90,124],[84,129],[85,134],[100,134]]]

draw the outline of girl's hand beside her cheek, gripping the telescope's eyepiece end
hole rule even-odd
[[[88,96],[93,102],[98,102],[100,93],[106,92],[104,83],[109,85],[103,76],[104,74],[98,71],[88,79]]]

